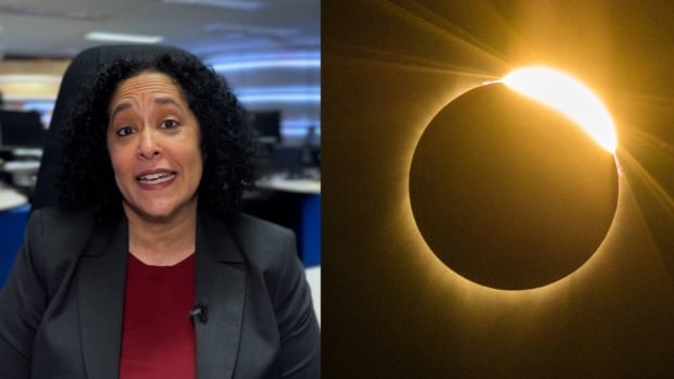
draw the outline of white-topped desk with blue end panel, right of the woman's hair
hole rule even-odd
[[[304,266],[321,264],[321,181],[270,177],[255,184],[272,194],[244,211],[295,230]],[[298,212],[299,209],[299,212]]]

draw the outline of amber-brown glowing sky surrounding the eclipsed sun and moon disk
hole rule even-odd
[[[324,377],[670,377],[672,2],[322,7]],[[415,227],[408,176],[440,109],[527,64],[563,70],[604,101],[621,199],[606,243],[581,269],[503,291],[435,257]]]

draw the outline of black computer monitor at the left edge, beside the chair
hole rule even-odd
[[[42,149],[47,130],[35,111],[0,110],[0,149]]]

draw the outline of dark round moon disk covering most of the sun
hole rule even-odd
[[[607,236],[617,194],[613,153],[501,83],[440,110],[410,168],[412,212],[430,250],[460,276],[503,290],[579,268]]]

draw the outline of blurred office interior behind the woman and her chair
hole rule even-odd
[[[320,309],[317,0],[0,1],[0,286],[23,238],[62,75],[100,45],[183,48],[222,74],[265,155],[248,213],[292,228]]]

